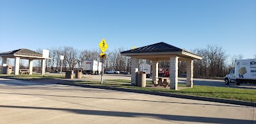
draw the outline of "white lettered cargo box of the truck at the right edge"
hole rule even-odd
[[[236,79],[256,79],[256,59],[241,59],[236,61]]]

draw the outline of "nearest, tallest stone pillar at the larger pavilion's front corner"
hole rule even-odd
[[[170,58],[170,89],[178,89],[178,57]]]

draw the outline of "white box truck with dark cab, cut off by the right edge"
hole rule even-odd
[[[256,83],[256,59],[241,59],[236,61],[234,70],[224,77],[225,84],[235,82],[236,85],[241,83]]]

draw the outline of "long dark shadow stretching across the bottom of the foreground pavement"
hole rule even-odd
[[[147,118],[155,118],[159,120],[168,121],[187,121],[187,122],[200,122],[200,123],[253,123],[252,120],[239,120],[230,118],[211,118],[211,117],[200,117],[200,116],[182,116],[172,114],[152,114],[142,112],[120,112],[120,111],[99,111],[99,110],[86,110],[86,109],[63,109],[63,108],[52,108],[52,107],[26,107],[26,106],[11,106],[11,105],[0,105],[4,108],[17,108],[17,109],[42,109],[42,110],[55,110],[55,111],[68,111],[75,112],[77,114],[87,115],[98,115],[98,116],[117,116],[117,117],[128,117],[137,118],[140,116]]]

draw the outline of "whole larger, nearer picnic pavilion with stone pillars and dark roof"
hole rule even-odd
[[[158,62],[170,61],[170,89],[178,88],[178,61],[186,61],[187,86],[193,88],[193,60],[202,59],[201,56],[188,50],[180,49],[164,42],[147,45],[137,49],[121,52],[122,56],[131,56],[131,83],[136,85],[136,72],[139,68],[139,59],[152,61],[152,81],[158,79]]]

